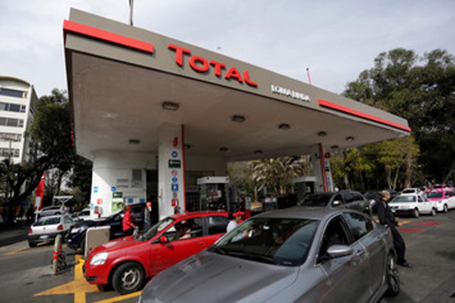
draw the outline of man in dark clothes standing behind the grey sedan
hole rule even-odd
[[[404,245],[403,238],[401,237],[400,233],[396,229],[396,226],[399,226],[399,224],[395,220],[392,210],[390,209],[390,207],[388,205],[389,199],[390,199],[390,193],[387,190],[381,191],[381,200],[378,201],[379,223],[390,228],[390,231],[392,232],[393,247],[395,248],[396,254],[398,257],[398,260],[397,260],[398,265],[401,265],[404,267],[411,267],[411,264],[407,263],[406,259],[404,259],[404,253],[406,251],[406,246]]]

